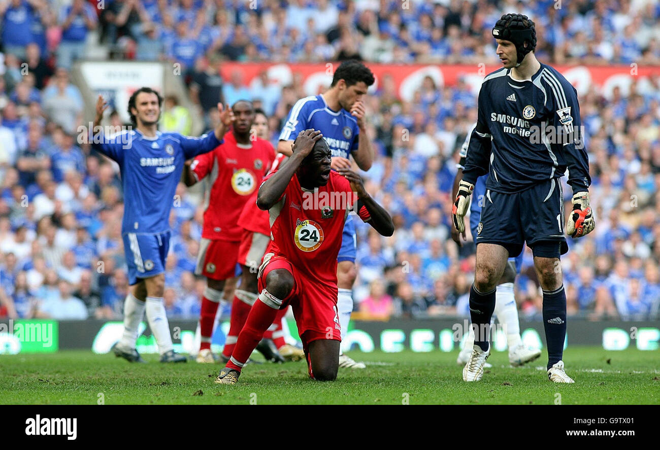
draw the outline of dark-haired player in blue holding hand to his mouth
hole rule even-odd
[[[369,170],[374,162],[374,150],[366,133],[366,110],[362,99],[374,81],[372,71],[360,61],[341,63],[328,90],[321,95],[301,98],[291,108],[277,151],[290,155],[291,145],[300,131],[320,130],[332,152],[331,167],[334,170],[350,169],[350,155],[360,169]],[[355,223],[349,215],[337,257],[337,309],[342,340],[348,333],[350,313],[353,311],[352,289],[357,276],[355,257]],[[366,366],[340,354],[339,367],[364,369]]]

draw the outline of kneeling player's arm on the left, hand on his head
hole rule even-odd
[[[300,167],[302,160],[312,152],[314,143],[322,137],[321,131],[318,130],[309,129],[298,133],[298,139],[296,139],[293,154],[290,156],[289,161],[273,176],[261,183],[257,194],[257,207],[259,209],[271,209],[282,198],[286,186]]]

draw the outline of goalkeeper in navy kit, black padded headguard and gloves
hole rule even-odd
[[[463,369],[465,381],[479,381],[490,355],[490,319],[496,284],[509,257],[523,244],[532,249],[543,288],[543,325],[548,346],[548,378],[573,383],[562,361],[566,338],[566,292],[560,255],[566,238],[595,226],[589,208],[589,162],[579,133],[575,88],[534,55],[536,31],[527,16],[503,15],[492,35],[502,69],[487,75],[479,92],[477,127],[472,132],[463,179],[453,206],[453,222],[465,232],[464,217],[479,176],[489,174],[477,226],[477,271],[470,290],[475,345]],[[573,211],[564,230],[560,177],[568,168]],[[476,199],[475,199],[476,200]]]

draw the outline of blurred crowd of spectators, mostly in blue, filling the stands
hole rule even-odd
[[[223,80],[223,61],[497,62],[490,27],[502,11],[535,19],[542,62],[660,63],[660,5],[649,1],[96,1],[0,0],[0,317],[121,317],[128,282],[116,166],[77,133],[83,99],[69,80],[90,36],[120,59],[169,59],[187,71],[205,117],[218,101],[255,100],[271,115],[273,143],[302,86]],[[288,3],[288,5],[287,5]],[[407,7],[403,7],[407,5]],[[27,66],[22,65],[23,62]],[[28,70],[24,70],[28,67]],[[568,313],[589,319],[658,317],[660,308],[660,79],[655,89],[605,100],[579,92],[596,209],[593,234],[562,258]],[[166,99],[162,130],[188,133],[189,112]],[[381,80],[368,96],[378,156],[366,188],[391,212],[391,238],[358,228],[356,310],[373,319],[467,315],[475,246],[450,237],[457,149],[477,117],[463,82],[424,80],[414,102]],[[84,120],[86,119],[86,120]],[[121,125],[118,115],[113,125]],[[565,180],[565,179],[564,179]],[[199,317],[205,281],[192,271],[203,209],[183,185],[170,225],[166,309]],[[564,185],[564,198],[570,199]],[[570,209],[570,205],[567,205]],[[358,221],[359,222],[359,221]],[[541,315],[531,252],[517,279],[521,317]]]

